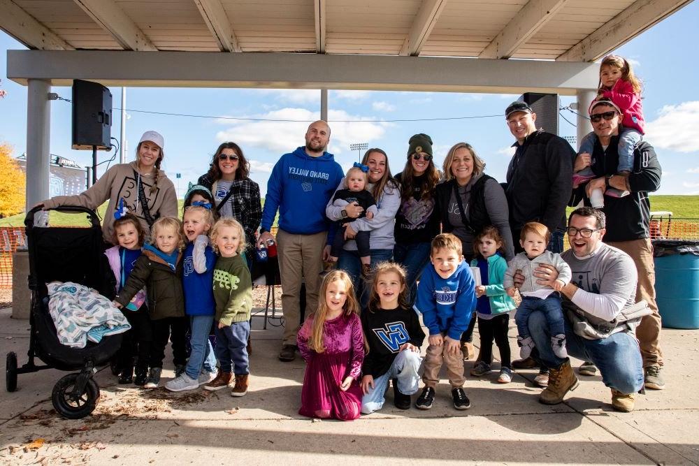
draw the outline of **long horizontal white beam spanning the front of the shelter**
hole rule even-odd
[[[366,70],[371,70],[367,73]],[[435,73],[439,70],[439,73]],[[107,86],[557,92],[598,80],[593,63],[396,55],[8,50],[7,75],[54,86],[73,79]]]

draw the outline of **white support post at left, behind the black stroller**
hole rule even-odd
[[[27,82],[27,210],[49,197],[51,102],[48,80]]]

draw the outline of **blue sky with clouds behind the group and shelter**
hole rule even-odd
[[[656,147],[663,165],[659,194],[699,194],[699,50],[696,42],[699,2],[679,12],[616,53],[630,59],[644,82],[646,139]],[[24,152],[27,137],[27,88],[6,78],[6,50],[22,49],[20,43],[0,31],[1,88],[8,93],[0,100],[0,142],[13,145],[15,156]],[[591,87],[596,82],[591,82]],[[54,87],[53,92],[70,99],[69,87]],[[113,105],[120,107],[121,90],[112,88]],[[415,133],[427,133],[434,141],[435,161],[441,166],[454,143],[473,145],[487,163],[487,173],[504,181],[510,157],[507,148],[513,138],[503,117],[428,121],[440,117],[502,115],[514,95],[449,94],[440,92],[363,92],[330,91],[329,119],[332,129],[330,151],[345,167],[359,158],[349,150],[350,143],[368,143],[389,154],[391,171],[405,165],[408,139]],[[561,97],[568,105],[570,97]],[[127,108],[150,112],[168,112],[220,117],[313,120],[319,117],[320,92],[275,89],[190,89],[129,88]],[[119,138],[120,117],[114,112],[112,136]],[[575,115],[563,110],[575,123]],[[391,119],[425,119],[421,122],[389,122]],[[335,120],[335,122],[333,122]],[[361,120],[340,123],[338,120]],[[308,123],[250,122],[231,119],[175,117],[129,112],[127,121],[127,159],[134,158],[136,143],[143,131],[154,129],[164,135],[163,168],[175,185],[175,173],[181,173],[179,189],[196,181],[208,169],[217,145],[233,140],[243,147],[252,163],[252,179],[266,192],[269,172],[280,154],[303,145]],[[561,136],[575,136],[576,129],[561,119]],[[91,163],[91,152],[71,150],[71,104],[52,102],[51,152]],[[99,152],[99,160],[108,158]],[[118,156],[117,156],[118,162]],[[106,164],[105,164],[106,165]],[[102,170],[99,172],[102,173]],[[180,194],[180,195],[181,195]]]

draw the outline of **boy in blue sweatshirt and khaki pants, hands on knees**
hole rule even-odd
[[[432,240],[430,260],[432,267],[422,272],[415,300],[415,310],[422,314],[430,333],[422,373],[425,387],[415,407],[432,407],[439,371],[442,363],[447,363],[454,407],[468,409],[471,405],[463,391],[466,379],[459,340],[476,305],[475,282],[470,267],[463,260],[461,240],[451,233],[443,233]]]

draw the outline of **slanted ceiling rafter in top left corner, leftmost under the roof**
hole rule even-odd
[[[35,20],[12,0],[0,0],[0,29],[29,48],[75,50],[73,46]]]

